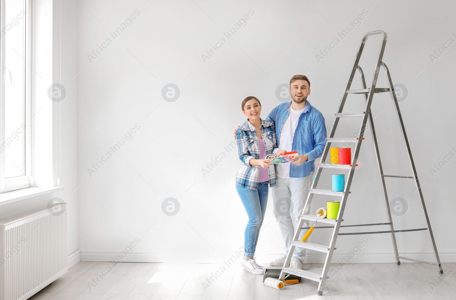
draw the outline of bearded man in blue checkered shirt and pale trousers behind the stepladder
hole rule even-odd
[[[307,97],[311,94],[310,81],[305,75],[295,75],[290,80],[291,101],[275,107],[267,120],[275,122],[276,139],[279,149],[297,151],[298,160],[277,164],[276,186],[272,188],[274,216],[279,224],[280,234],[285,242],[286,253],[269,264],[283,266],[290,241],[299,224],[315,171],[315,159],[320,157],[326,145],[326,126],[323,115],[311,106]],[[305,214],[310,211],[310,203]],[[293,219],[290,216],[293,214]],[[305,221],[306,227],[309,222]],[[301,231],[300,239],[305,234]],[[290,267],[301,269],[306,250],[296,247]]]

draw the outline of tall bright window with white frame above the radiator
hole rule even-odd
[[[29,0],[0,0],[0,192],[31,184]]]

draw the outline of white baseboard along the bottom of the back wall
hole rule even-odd
[[[78,251],[77,251],[78,252]],[[76,253],[76,252],[75,252]],[[74,254],[74,253],[73,253]],[[72,255],[73,255],[72,254]],[[81,261],[113,261],[119,253],[109,253],[109,252],[81,252],[80,260]],[[257,261],[261,264],[267,264],[269,261],[277,259],[281,253],[277,254],[265,254],[258,255]],[[337,263],[342,261],[347,256],[347,253],[334,253],[332,255],[332,263]],[[400,253],[400,256],[408,257],[411,259],[419,259],[423,261],[435,262],[433,253]],[[440,262],[449,263],[454,261],[456,253],[439,253]],[[178,259],[177,257],[172,257],[174,260],[163,258],[156,253],[131,253],[127,255],[122,262],[133,262],[133,263],[222,263],[223,259],[207,259],[202,260],[200,258],[195,259]],[[304,263],[314,263],[321,264],[325,262],[326,255],[323,253],[308,253]],[[226,258],[225,258],[226,259]],[[346,259],[347,260],[347,259]],[[363,251],[358,255],[350,258],[350,263],[394,263],[394,254],[392,253],[367,253]],[[403,263],[413,263],[413,261],[401,259]],[[68,263],[69,264],[69,263]]]

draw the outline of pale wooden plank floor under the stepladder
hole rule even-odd
[[[323,296],[315,294],[317,283],[304,279],[300,284],[274,290],[240,264],[154,264],[120,263],[109,273],[105,262],[80,262],[61,278],[31,297],[34,300],[456,300],[456,264],[444,266],[446,274],[428,264],[347,264],[333,276]],[[303,264],[303,269],[321,272],[322,264]],[[219,272],[216,272],[219,271]],[[213,283],[202,283],[212,274]],[[100,279],[93,284],[93,278]],[[221,275],[218,276],[217,274]],[[101,279],[102,278],[102,279]],[[89,287],[89,285],[91,286]]]

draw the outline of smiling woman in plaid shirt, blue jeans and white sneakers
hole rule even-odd
[[[236,190],[249,216],[241,264],[252,274],[264,274],[266,268],[256,263],[254,254],[268,202],[268,183],[271,187],[275,186],[274,166],[265,157],[268,154],[283,154],[285,150],[277,148],[274,122],[259,117],[261,103],[257,98],[245,98],[241,108],[247,120],[236,130],[236,144],[242,161],[236,174]]]

